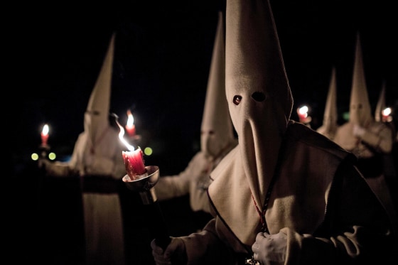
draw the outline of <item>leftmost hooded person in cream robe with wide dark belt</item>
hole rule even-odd
[[[48,175],[82,177],[86,264],[124,264],[122,210],[114,181],[126,170],[119,132],[109,124],[113,35],[90,95],[84,129],[68,162],[45,162]],[[102,185],[102,184],[103,185]]]

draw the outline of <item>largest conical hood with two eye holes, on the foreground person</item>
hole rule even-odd
[[[227,1],[226,94],[257,205],[274,174],[293,99],[269,1]]]

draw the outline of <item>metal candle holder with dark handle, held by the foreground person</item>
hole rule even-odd
[[[158,166],[146,166],[145,169],[146,173],[140,175],[136,180],[131,180],[129,175],[124,175],[122,180],[127,185],[129,190],[139,193],[144,205],[150,205],[151,207],[154,207],[153,210],[156,216],[155,219],[160,221],[156,222],[154,227],[152,227],[156,244],[158,244],[158,246],[162,249],[166,249],[171,241],[171,238],[168,235],[166,221],[164,220],[163,213],[161,212],[161,207],[158,204],[158,198],[156,197],[154,188],[160,176],[159,168]]]

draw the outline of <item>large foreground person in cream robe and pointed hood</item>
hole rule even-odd
[[[213,220],[164,251],[152,241],[156,264],[383,263],[391,226],[355,157],[290,119],[269,1],[226,5],[225,85],[239,144],[210,173]]]

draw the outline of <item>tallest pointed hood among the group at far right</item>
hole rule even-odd
[[[372,119],[372,109],[367,96],[365,70],[362,62],[360,35],[357,33],[353,84],[350,97],[350,122],[360,126],[366,126]]]

